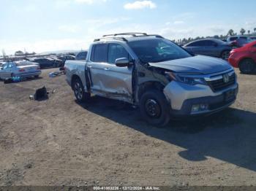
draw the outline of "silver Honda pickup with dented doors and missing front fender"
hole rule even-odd
[[[86,61],[65,63],[78,101],[91,94],[140,107],[153,125],[170,116],[219,112],[236,100],[238,83],[227,61],[193,55],[159,35],[112,34],[95,39]]]

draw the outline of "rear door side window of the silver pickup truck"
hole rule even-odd
[[[97,63],[108,63],[108,44],[95,44],[93,47],[91,61]]]

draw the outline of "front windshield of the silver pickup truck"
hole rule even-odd
[[[128,42],[144,63],[157,63],[191,57],[187,51],[167,39],[146,39]]]

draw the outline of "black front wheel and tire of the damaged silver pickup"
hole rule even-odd
[[[140,98],[140,113],[151,125],[167,125],[170,121],[169,106],[164,93],[159,90],[149,90]]]

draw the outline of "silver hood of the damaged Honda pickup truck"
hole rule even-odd
[[[168,69],[178,73],[192,74],[212,74],[225,71],[227,69],[232,69],[232,66],[230,66],[227,61],[204,55],[148,64],[153,67]]]

